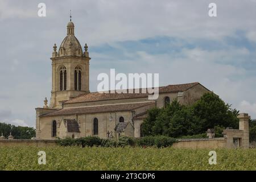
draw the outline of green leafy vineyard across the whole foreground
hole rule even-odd
[[[39,151],[46,164],[38,164]],[[154,147],[0,147],[0,170],[256,170],[256,149],[217,152]]]

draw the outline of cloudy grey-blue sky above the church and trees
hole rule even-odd
[[[38,4],[46,4],[46,17]],[[209,17],[209,3],[217,17]],[[90,91],[97,75],[159,73],[160,85],[200,82],[256,118],[256,0],[0,0],[0,121],[35,126],[51,97],[52,46],[69,10],[89,46]]]

